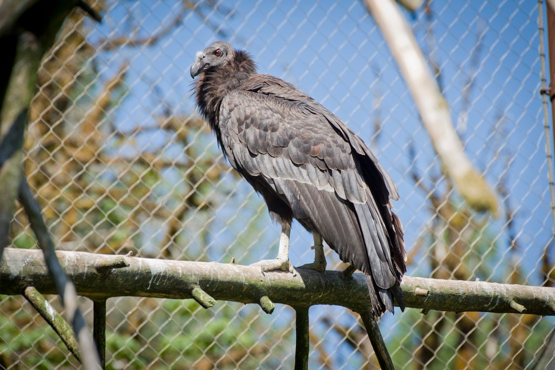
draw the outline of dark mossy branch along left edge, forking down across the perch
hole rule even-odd
[[[14,1],[0,2],[0,44],[3,46],[0,62],[0,261],[8,240],[15,200],[19,196],[77,335],[80,361],[84,368],[93,369],[97,368],[99,361],[75,302],[75,288],[65,278],[56,259],[41,207],[34,200],[27,181],[22,179],[23,135],[29,104],[36,91],[37,70],[74,6],[90,10],[83,1],[77,0],[24,1],[19,5]],[[26,297],[40,310],[46,306],[36,293],[27,290]]]

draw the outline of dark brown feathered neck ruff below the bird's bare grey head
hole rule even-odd
[[[217,135],[221,100],[254,74],[256,64],[245,50],[232,50],[225,64],[200,73],[195,86],[196,105]]]

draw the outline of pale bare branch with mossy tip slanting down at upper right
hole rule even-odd
[[[473,168],[412,30],[393,0],[365,0],[405,78],[443,168],[473,209],[497,212],[497,197]]]

